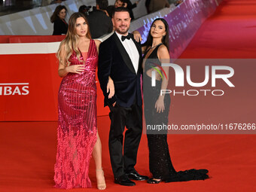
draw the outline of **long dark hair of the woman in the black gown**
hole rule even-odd
[[[157,18],[153,21],[153,23],[151,24],[151,27],[153,26],[153,24],[157,21],[157,20],[160,20],[163,22],[165,28],[166,28],[166,35],[163,36],[162,38],[162,43],[167,47],[167,49],[169,50],[169,25],[168,23],[166,22],[166,20],[164,20],[163,18]],[[153,37],[151,35],[151,29],[149,29],[149,32],[148,32],[148,38],[147,38],[147,41],[145,41],[144,44],[142,44],[142,46],[146,46],[146,49],[145,50],[148,50],[148,47],[151,47],[152,46],[152,43],[153,43]]]

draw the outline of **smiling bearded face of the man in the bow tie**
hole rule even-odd
[[[130,14],[127,11],[115,12],[112,22],[116,32],[121,35],[126,35],[131,23]]]

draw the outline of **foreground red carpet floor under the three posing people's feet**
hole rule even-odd
[[[207,168],[211,179],[177,183],[147,184],[136,187],[113,182],[108,156],[108,117],[99,117],[103,167],[108,191],[255,191],[255,136],[170,135],[169,148],[175,169]],[[53,188],[53,165],[56,155],[56,122],[0,123],[1,191],[59,191]],[[136,169],[149,175],[145,135],[139,148]],[[93,159],[90,166],[92,189],[96,191]],[[72,191],[85,191],[73,189]]]

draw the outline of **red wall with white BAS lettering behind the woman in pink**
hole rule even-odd
[[[57,120],[58,76],[55,53],[1,55],[0,121]],[[25,84],[20,84],[25,83]],[[98,115],[103,95],[97,85]]]

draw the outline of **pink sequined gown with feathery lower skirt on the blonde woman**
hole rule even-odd
[[[81,60],[85,59],[83,56]],[[75,53],[71,65],[83,65]],[[96,44],[90,41],[81,74],[69,73],[59,87],[58,145],[54,166],[55,187],[91,187],[88,176],[90,157],[96,143]]]

